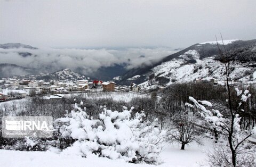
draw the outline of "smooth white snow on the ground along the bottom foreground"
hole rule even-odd
[[[205,141],[204,146],[191,144],[180,150],[180,145],[169,145],[161,153],[164,161],[159,167],[185,167],[185,166],[208,166],[205,161],[207,149],[210,148],[210,141]],[[15,160],[13,159],[15,157]],[[145,167],[155,166],[148,164],[132,164],[120,160],[90,156],[82,158],[78,156],[63,156],[52,152],[21,152],[0,150],[0,166],[131,166]]]

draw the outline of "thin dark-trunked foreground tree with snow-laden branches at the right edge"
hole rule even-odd
[[[243,109],[240,107],[242,103],[246,102],[247,98],[249,98],[251,95],[249,94],[248,90],[245,90],[244,93],[238,88],[235,88],[235,90],[237,92],[238,98],[241,101],[238,104],[237,110],[233,110],[230,106],[230,117],[227,118],[223,118],[223,115],[218,110],[212,109],[210,111],[207,110],[204,105],[202,105],[205,104],[209,106],[211,105],[210,102],[196,101],[196,99],[193,97],[189,97],[190,101],[192,101],[194,105],[200,110],[199,113],[204,118],[204,120],[211,124],[212,129],[221,132],[221,136],[224,139],[224,144],[219,143],[218,146],[215,146],[214,154],[210,154],[209,156],[210,162],[212,164],[213,162],[217,164],[215,160],[219,161],[220,158],[222,158],[224,165],[228,164],[233,166],[246,166],[244,164],[254,163],[249,161],[253,160],[252,157],[254,157],[254,155],[250,153],[252,152],[252,149],[253,152],[255,152],[255,149],[254,147],[248,146],[247,139],[256,132],[256,128],[251,127],[250,130],[242,130],[239,124],[241,117],[239,117],[239,114],[237,114],[239,111],[243,111]],[[201,102],[202,104],[199,104],[198,102]],[[217,157],[217,155],[222,157]],[[242,158],[244,156],[246,156],[247,160],[249,161],[247,161],[246,158]]]

